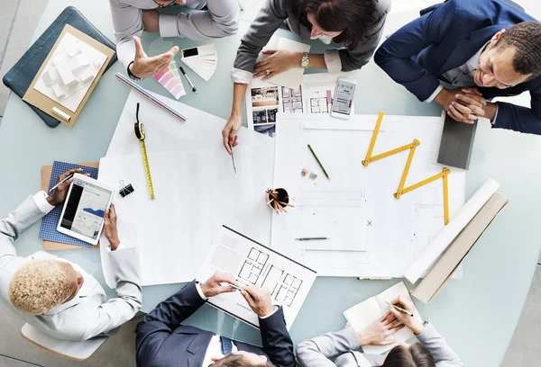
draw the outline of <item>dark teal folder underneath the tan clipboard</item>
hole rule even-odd
[[[109,49],[115,49],[115,43],[107,39],[100,31],[96,29],[92,23],[87,21],[75,7],[68,6],[60,13],[58,18],[52,22],[46,31],[41,34],[40,38],[32,44],[22,58],[12,67],[4,76],[3,82],[5,86],[10,88],[19,97],[23,98],[28,87],[32,84],[34,76],[38,73],[47,58],[50,50],[58,40],[60,33],[63,31],[66,24],[77,28],[79,31],[86,33],[88,36],[104,44]],[[116,61],[116,55],[107,65],[105,70],[111,67]],[[30,104],[29,104],[30,105]],[[60,121],[51,117],[40,109],[30,105],[32,110],[36,112],[50,128],[56,128]]]

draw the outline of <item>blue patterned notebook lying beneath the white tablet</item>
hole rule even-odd
[[[50,175],[49,188],[54,186],[59,181],[59,175],[74,168],[83,168],[85,174],[90,174],[90,177],[97,180],[97,168],[88,166],[78,166],[71,163],[54,161],[52,164],[52,173]],[[50,213],[41,219],[40,235],[38,238],[45,241],[60,242],[62,244],[76,245],[92,247],[91,244],[81,241],[78,238],[69,237],[57,230],[60,221],[60,215],[62,214],[63,205],[57,205]]]

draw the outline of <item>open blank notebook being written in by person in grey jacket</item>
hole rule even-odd
[[[363,328],[368,327],[372,322],[377,321],[379,318],[389,312],[390,306],[386,303],[386,301],[390,302],[399,296],[413,302],[409,296],[406,284],[404,284],[404,282],[399,282],[398,284],[390,287],[390,289],[387,291],[383,291],[377,296],[371,297],[368,300],[353,306],[351,309],[346,309],[344,311],[344,316],[353,326],[355,331],[361,331]],[[419,315],[417,308],[414,308],[413,315],[414,318],[422,321],[421,315]],[[404,327],[397,333],[389,336],[387,339],[395,340],[397,343],[405,343],[413,336],[413,332],[409,330],[408,327]],[[364,345],[362,346],[362,352],[368,354],[383,354],[390,351],[395,346],[396,344]]]

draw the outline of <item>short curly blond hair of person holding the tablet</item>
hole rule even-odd
[[[73,292],[69,269],[58,260],[30,260],[9,282],[7,293],[14,307],[42,315],[69,299]]]

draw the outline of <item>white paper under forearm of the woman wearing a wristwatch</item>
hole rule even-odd
[[[308,52],[310,50],[310,45],[298,42],[296,40],[289,40],[284,37],[277,36],[274,34],[267,43],[265,49],[284,49],[291,52]],[[259,62],[265,58],[268,58],[270,55],[265,55],[262,52],[259,54],[256,62]],[[271,76],[267,81],[273,85],[282,85],[289,88],[296,88],[302,80],[302,75],[304,74],[304,67],[291,67],[289,70],[284,71],[276,76]]]

